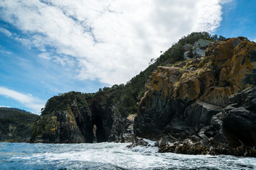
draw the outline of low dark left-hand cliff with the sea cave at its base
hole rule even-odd
[[[33,127],[31,142],[131,142],[133,131],[124,137],[129,119],[119,114],[114,103],[107,103],[113,93],[88,97],[70,92],[50,98]]]

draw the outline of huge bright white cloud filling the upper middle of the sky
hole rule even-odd
[[[1,1],[0,17],[22,31],[16,40],[41,50],[39,57],[79,69],[79,79],[120,84],[183,35],[213,32],[220,26],[222,3],[8,0]]]

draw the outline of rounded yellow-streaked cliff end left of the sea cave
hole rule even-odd
[[[56,99],[56,108],[50,110],[46,107],[34,125],[33,142],[92,142],[92,130],[88,130],[92,126],[92,115],[87,103],[70,97],[66,106],[60,109],[59,98]],[[78,106],[78,103],[82,105]]]

